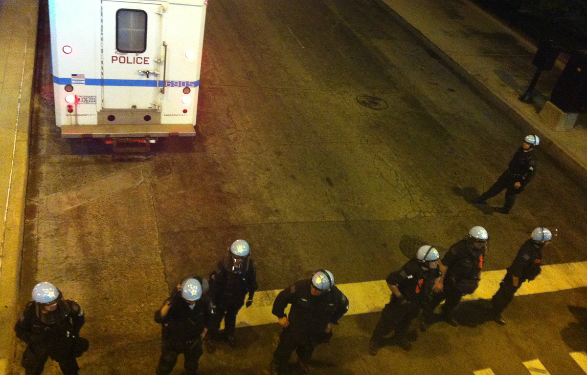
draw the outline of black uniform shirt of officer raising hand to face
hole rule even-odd
[[[171,302],[167,315],[161,316],[161,309],[155,312],[155,321],[161,324],[163,339],[173,342],[192,342],[197,339],[204,328],[210,326],[211,303],[207,295],[195,301],[194,308],[176,293],[167,298],[163,305]]]

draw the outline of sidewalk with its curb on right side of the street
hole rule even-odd
[[[532,57],[537,48],[521,35],[467,0],[383,2],[451,70],[508,112],[528,133],[538,134],[541,150],[587,187],[587,127],[581,124],[582,117],[575,128],[555,131],[538,114],[564,68],[562,64],[542,73],[537,104],[524,104],[518,97],[534,76]]]

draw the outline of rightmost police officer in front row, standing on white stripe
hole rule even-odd
[[[500,289],[491,299],[492,315],[495,322],[505,324],[501,313],[514,299],[522,282],[534,280],[541,272],[542,248],[552,240],[552,233],[544,227],[532,231],[532,236],[518,250],[514,262],[508,267]]]

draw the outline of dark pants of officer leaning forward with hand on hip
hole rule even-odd
[[[279,364],[287,363],[295,350],[300,362],[308,362],[312,359],[314,349],[321,342],[321,339],[323,339],[323,335],[321,336],[319,333],[284,328],[279,336],[279,345],[273,353],[273,358]]]

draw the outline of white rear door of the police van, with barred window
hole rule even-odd
[[[160,124],[163,5],[102,2],[99,124]]]

